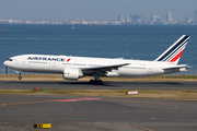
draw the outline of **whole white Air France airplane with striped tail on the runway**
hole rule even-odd
[[[153,61],[109,59],[51,55],[20,55],[3,64],[21,72],[57,73],[65,80],[93,76],[91,83],[102,83],[101,76],[144,78],[187,71],[187,64],[177,64],[190,36],[181,36]]]

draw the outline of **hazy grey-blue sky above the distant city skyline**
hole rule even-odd
[[[194,19],[197,0],[0,0],[0,19],[117,21],[118,15],[160,15]]]

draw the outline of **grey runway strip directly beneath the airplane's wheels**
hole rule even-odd
[[[78,88],[78,90],[197,90],[197,82],[123,82],[104,81],[90,84],[88,81],[0,81],[0,90]]]

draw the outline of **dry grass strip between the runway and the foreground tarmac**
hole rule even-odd
[[[138,91],[137,95],[125,95],[125,92]],[[174,100],[197,100],[197,90],[0,90],[0,94],[23,95],[78,95],[130,98],[157,98]]]

